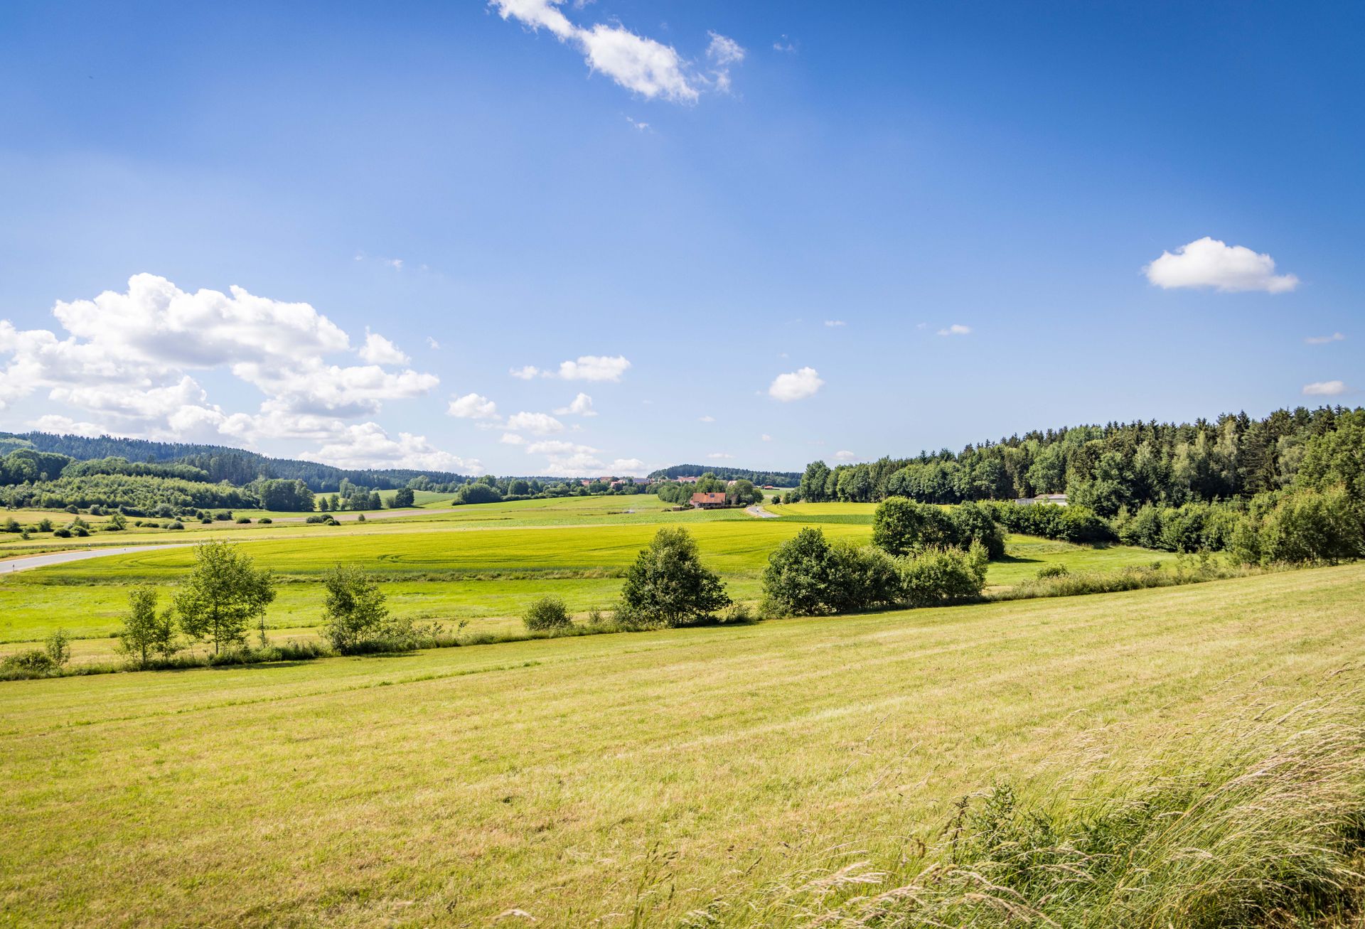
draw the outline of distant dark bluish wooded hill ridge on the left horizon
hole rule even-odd
[[[198,445],[194,442],[149,442],[146,439],[123,439],[112,435],[89,438],[85,435],[55,435],[52,432],[0,432],[0,454],[19,447],[38,452],[66,454],[79,461],[93,458],[120,457],[128,461],[176,462],[199,468],[209,480],[242,486],[257,477],[281,477],[302,480],[314,491],[336,491],[343,480],[363,487],[392,490],[405,487],[414,477],[430,477],[438,484],[459,484],[472,480],[467,475],[449,471],[410,471],[405,468],[345,469],[317,461],[295,458],[272,458],[257,452],[232,449],[224,445]]]

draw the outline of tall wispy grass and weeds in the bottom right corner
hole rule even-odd
[[[1361,925],[1361,694],[1242,705],[1122,767],[1073,758],[1051,783],[964,797],[894,873],[842,851],[685,925]]]

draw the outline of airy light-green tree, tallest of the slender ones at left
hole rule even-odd
[[[246,644],[253,619],[261,623],[265,644],[265,608],[274,600],[274,578],[257,570],[248,555],[228,542],[202,542],[194,547],[194,570],[175,596],[180,628],[194,640],[212,638],[213,653]]]

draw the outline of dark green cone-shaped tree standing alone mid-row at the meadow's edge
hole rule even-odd
[[[687,529],[659,529],[625,574],[618,615],[637,626],[687,626],[730,604]]]

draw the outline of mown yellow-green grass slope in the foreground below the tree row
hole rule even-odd
[[[1365,566],[1108,596],[0,685],[0,899],[34,924],[677,915],[1077,739],[1122,760],[1365,648]],[[1107,728],[1096,728],[1108,726]],[[743,922],[743,919],[738,919]],[[614,917],[607,925],[627,924]],[[655,925],[651,922],[650,925]]]

